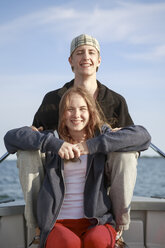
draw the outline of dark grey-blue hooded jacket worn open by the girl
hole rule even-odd
[[[84,213],[91,225],[109,223],[114,225],[111,202],[107,195],[105,175],[106,154],[109,152],[143,151],[150,145],[151,137],[142,126],[130,126],[112,132],[106,125],[101,133],[87,140],[87,160],[84,188]],[[62,206],[65,185],[63,160],[58,151],[63,144],[53,132],[37,132],[29,127],[13,129],[4,137],[10,153],[17,150],[38,150],[46,152],[45,178],[38,196],[38,225],[41,230],[40,247],[44,248]]]

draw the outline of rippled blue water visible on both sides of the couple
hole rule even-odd
[[[165,159],[163,157],[138,159],[134,195],[165,198]],[[16,160],[5,160],[0,163],[0,201],[8,198],[23,199]]]

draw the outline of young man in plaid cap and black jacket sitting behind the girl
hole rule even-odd
[[[96,79],[101,57],[100,46],[95,38],[86,34],[74,38],[71,43],[69,63],[75,75],[74,79],[66,83],[62,88],[46,94],[34,116],[34,129],[57,130],[60,99],[67,89],[74,86],[83,86],[91,93],[104,113],[106,120],[113,128],[133,124],[125,99]],[[74,152],[69,147],[65,147],[63,157],[72,158]],[[122,230],[129,228],[130,204],[136,181],[137,158],[138,154],[136,152],[110,153],[107,157],[106,173],[109,178],[109,194],[113,204],[116,229],[119,236]],[[26,202],[25,215],[27,224],[36,226],[36,198],[44,174],[39,152],[19,151],[18,167]],[[32,187],[32,185],[34,186]],[[32,207],[33,211],[29,212]],[[124,247],[122,242],[118,241],[118,243],[116,247]]]

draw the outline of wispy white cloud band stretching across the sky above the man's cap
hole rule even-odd
[[[52,6],[1,25],[0,36],[6,41],[38,28],[53,34],[65,32],[69,39],[82,30],[94,34],[102,42],[162,43],[165,40],[164,19],[165,3],[118,2],[106,9],[96,4],[83,10]]]

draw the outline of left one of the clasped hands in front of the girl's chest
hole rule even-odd
[[[62,159],[69,160],[73,158],[79,158],[81,154],[80,149],[76,145],[64,142],[58,151],[58,155]]]

